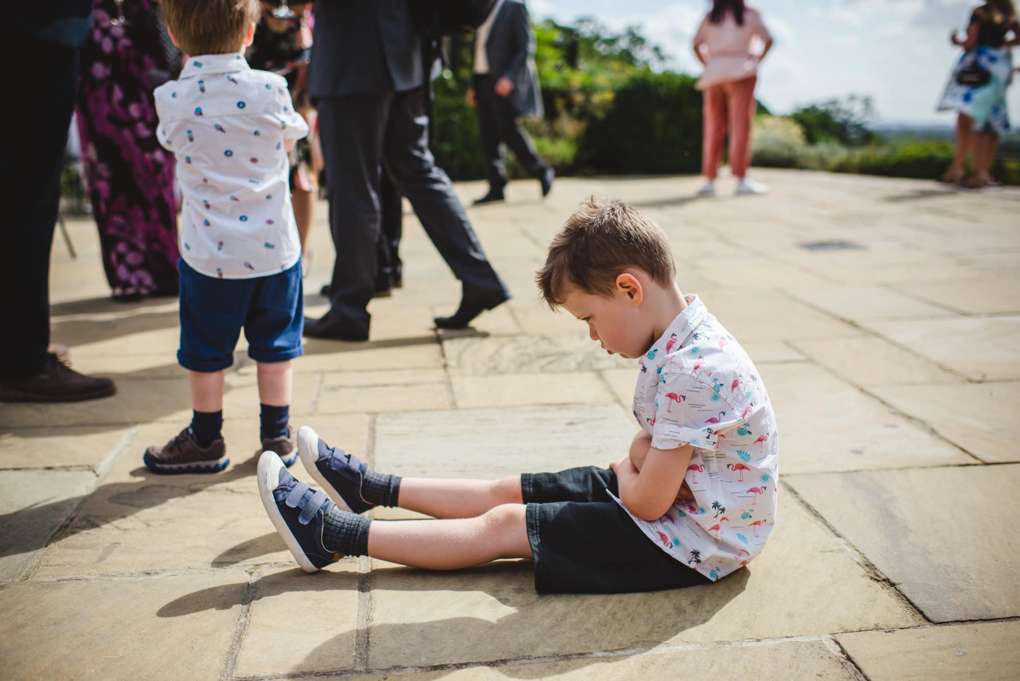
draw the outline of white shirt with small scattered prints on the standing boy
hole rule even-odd
[[[286,142],[308,135],[287,81],[240,54],[188,59],[156,88],[159,143],[176,156],[181,256],[221,279],[268,276],[301,257]]]

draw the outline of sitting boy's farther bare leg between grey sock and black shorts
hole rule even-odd
[[[474,518],[522,502],[520,476],[511,475],[500,480],[401,478],[398,505],[434,518]]]

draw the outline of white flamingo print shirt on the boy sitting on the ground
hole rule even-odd
[[[652,447],[694,447],[685,480],[695,501],[656,521],[630,517],[664,552],[714,581],[747,565],[772,532],[778,432],[748,354],[697,296],[686,301],[640,360],[633,413]]]

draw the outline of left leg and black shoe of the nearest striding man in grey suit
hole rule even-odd
[[[329,290],[332,309],[326,317],[306,324],[306,335],[337,336],[343,327],[350,339],[368,336],[371,317],[365,308],[375,292],[379,164],[392,98],[392,93],[384,93],[318,100],[337,259]]]

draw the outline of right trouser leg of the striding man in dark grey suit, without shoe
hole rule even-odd
[[[510,294],[486,258],[450,178],[428,150],[424,97],[424,88],[396,95],[386,133],[387,170],[465,293],[483,294],[487,307],[498,305]]]

